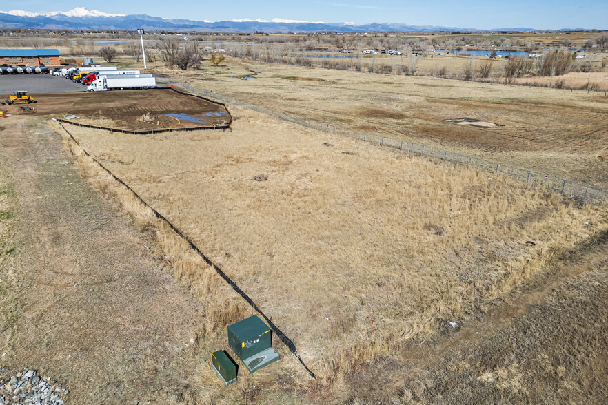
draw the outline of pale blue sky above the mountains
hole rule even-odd
[[[12,3],[12,2],[9,2]],[[8,11],[4,3],[1,10]],[[290,19],[328,23],[405,23],[458,28],[598,28],[608,29],[608,0],[270,0],[207,1],[104,0],[74,3],[68,0],[20,0],[14,9],[30,12],[68,11],[75,6],[111,14],[148,14],[196,21],[233,19]],[[52,10],[50,9],[52,8]]]

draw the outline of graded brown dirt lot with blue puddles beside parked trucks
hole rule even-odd
[[[76,114],[79,123],[119,129],[212,127],[230,123],[222,105],[170,89],[121,90],[61,94],[31,94],[36,111],[24,112],[18,105],[3,106],[8,114]]]

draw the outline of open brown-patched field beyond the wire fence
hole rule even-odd
[[[239,79],[251,71],[261,74]],[[225,67],[171,74],[197,89],[344,129],[425,143],[608,188],[604,94],[234,59]],[[447,122],[463,117],[500,126]]]

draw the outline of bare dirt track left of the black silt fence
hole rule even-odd
[[[58,380],[72,404],[188,402],[190,296],[145,233],[79,176],[43,118],[2,124],[0,176],[14,204],[0,242],[14,251],[0,261],[1,366]]]

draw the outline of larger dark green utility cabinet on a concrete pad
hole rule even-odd
[[[228,345],[250,373],[280,359],[270,347],[272,332],[257,315],[228,326]]]

